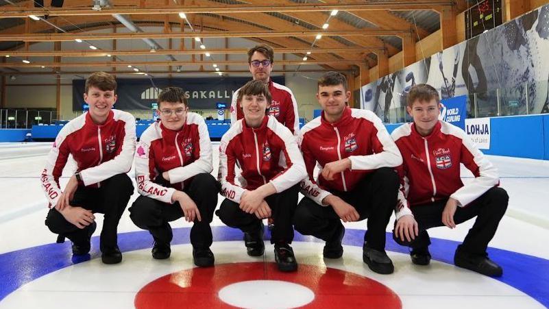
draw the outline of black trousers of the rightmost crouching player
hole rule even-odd
[[[396,237],[393,231],[393,239],[400,245],[412,248],[428,247],[431,241],[427,230],[431,227],[444,225],[442,223],[442,212],[446,206],[446,201],[448,199],[413,206],[412,212],[419,227],[419,236],[411,242],[402,241]],[[476,217],[476,221],[467,236],[465,236],[460,250],[471,254],[486,254],[488,243],[496,234],[500,220],[505,214],[505,210],[507,210],[508,201],[509,195],[504,189],[493,187],[469,205],[456,209],[454,214],[456,224]]]

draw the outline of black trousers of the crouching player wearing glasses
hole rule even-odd
[[[217,207],[218,183],[209,173],[200,173],[193,177],[184,193],[195,201],[202,218],[202,221],[195,219],[191,227],[191,244],[195,248],[209,248],[212,245],[210,223]],[[129,210],[134,224],[149,230],[155,240],[162,243],[169,243],[173,238],[169,222],[184,216],[179,202],[164,203],[143,195],[134,201]]]

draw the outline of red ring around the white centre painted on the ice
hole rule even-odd
[[[281,273],[275,263],[263,262],[218,264],[164,275],[138,291],[135,306],[232,308],[219,299],[219,290],[250,280],[280,280],[310,288],[315,299],[303,308],[402,308],[400,297],[390,288],[356,273],[308,264],[300,264],[296,272]]]

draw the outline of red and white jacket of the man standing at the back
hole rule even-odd
[[[232,94],[231,125],[244,118],[240,102],[236,102],[239,91],[240,89]],[[297,132],[300,132],[300,116],[297,115],[297,101],[295,101],[292,90],[269,80],[269,92],[271,92],[272,97],[269,115],[275,116],[278,122],[285,125],[293,135],[297,136]]]

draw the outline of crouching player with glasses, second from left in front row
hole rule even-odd
[[[193,222],[193,262],[214,264],[213,212],[217,206],[217,181],[212,171],[212,145],[206,122],[188,112],[184,90],[165,88],[158,95],[160,122],[141,135],[135,154],[137,190],[130,218],[154,238],[152,256],[169,258],[173,237],[169,221],[185,217]]]

